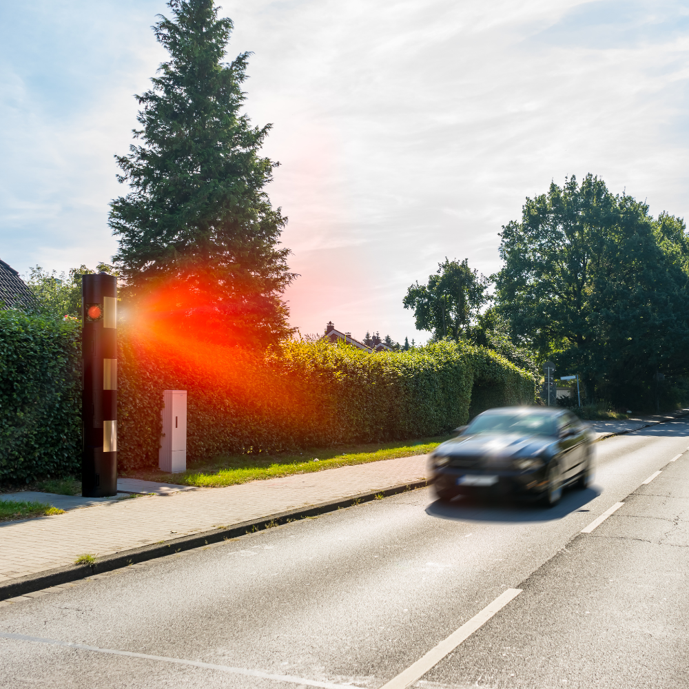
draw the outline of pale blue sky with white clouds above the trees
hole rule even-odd
[[[593,173],[688,217],[689,0],[220,0],[273,123],[267,192],[300,274],[291,324],[424,342],[402,306],[445,257],[500,269],[499,232]],[[115,154],[165,51],[160,0],[0,5],[0,258],[110,262]]]

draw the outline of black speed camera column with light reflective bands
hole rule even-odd
[[[117,278],[81,277],[81,494],[117,494]]]

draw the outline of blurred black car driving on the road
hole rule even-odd
[[[456,495],[515,495],[556,504],[565,486],[584,489],[593,471],[593,434],[570,411],[489,409],[429,455],[440,500]]]

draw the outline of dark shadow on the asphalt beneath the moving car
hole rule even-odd
[[[565,491],[559,504],[551,508],[507,498],[489,500],[462,495],[451,502],[431,502],[426,514],[438,519],[474,522],[551,522],[581,509],[600,493],[596,486],[585,491]]]

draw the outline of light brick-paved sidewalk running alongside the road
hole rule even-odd
[[[592,425],[597,440],[601,440],[663,423],[678,415],[681,413]],[[314,505],[329,503],[327,508],[333,509],[333,503],[357,495],[422,482],[425,473],[426,455],[417,455],[225,488],[185,489],[185,486],[160,484],[154,495],[102,500],[90,506],[81,506],[80,500],[82,504],[90,502],[82,498],[37,494],[45,502],[58,502],[56,499],[61,498],[61,504],[70,511],[21,522],[0,522],[0,599],[7,597],[1,595],[1,589],[8,584],[19,584],[26,577],[31,579],[49,570],[74,569],[74,560],[85,553],[100,559],[148,547],[152,551],[148,557],[158,557],[153,551],[160,551],[160,544],[174,544],[176,548],[180,539],[195,534],[229,529],[244,522],[267,521],[273,515]],[[139,484],[143,482],[123,487],[130,491],[143,490]],[[146,492],[148,487],[145,486]],[[172,489],[176,491],[171,492]],[[19,495],[26,499],[28,493]],[[187,544],[187,547],[192,546]],[[90,574],[88,568],[80,571],[83,573],[72,572],[69,576],[76,579]]]

